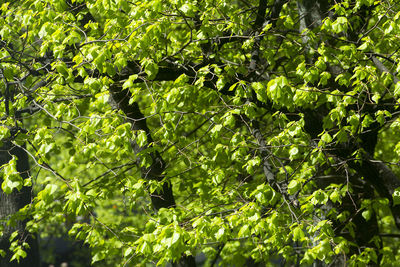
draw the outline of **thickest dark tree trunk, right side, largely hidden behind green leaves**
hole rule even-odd
[[[300,19],[300,29],[299,31],[302,32],[306,28],[312,30],[317,26],[322,24],[322,20],[329,15],[329,1],[327,0],[318,0],[318,1],[311,1],[311,0],[298,0],[298,8],[299,8],[299,15]],[[351,34],[351,33],[350,33]],[[349,37],[351,39],[351,37]],[[303,43],[305,46],[306,51],[309,50],[313,46],[318,46],[318,44],[310,43],[306,36],[303,37]],[[314,49],[317,47],[313,47]],[[313,58],[307,58],[309,64],[314,63]],[[335,75],[338,73],[337,67],[328,66],[328,69],[331,74]],[[337,87],[337,84],[332,84],[332,87]],[[318,138],[318,135],[323,131],[323,117],[327,115],[326,110],[323,107],[320,107],[319,111],[316,110],[309,110],[305,113],[305,121],[306,131],[310,134],[311,138]],[[375,129],[374,131],[368,132],[367,135],[360,136],[362,141],[357,142],[354,140],[353,144],[348,144],[345,148],[337,148],[334,151],[334,155],[337,156],[338,162],[341,162],[343,159],[347,160],[351,158],[352,153],[359,149],[360,147],[363,148],[365,151],[373,155],[377,140],[377,134],[379,129]],[[366,168],[365,165],[370,167],[369,169]],[[350,248],[349,253],[346,257],[351,257],[351,255],[359,254],[360,251],[358,248],[372,248],[377,252],[378,255],[378,262],[380,261],[381,254],[379,253],[379,249],[381,247],[381,240],[377,240],[377,242],[371,242],[371,238],[374,236],[379,235],[379,226],[378,221],[376,218],[376,214],[372,211],[371,217],[367,221],[362,215],[361,209],[361,202],[363,199],[373,199],[375,196],[374,189],[378,191],[381,196],[391,198],[387,194],[387,189],[379,190],[379,182],[373,182],[371,175],[375,175],[375,179],[380,180],[382,182],[384,179],[381,179],[379,175],[377,175],[378,171],[375,170],[373,167],[370,166],[370,162],[363,160],[362,164],[354,163],[352,160],[348,162],[348,166],[357,171],[357,174],[352,175],[351,177],[348,176],[348,173],[335,173],[336,171],[332,169],[330,171],[333,177],[337,177],[336,179],[329,181],[329,183],[346,183],[346,180],[343,177],[347,177],[347,181],[350,182],[353,188],[353,192],[349,193],[345,198],[342,199],[343,203],[341,205],[331,205],[328,203],[326,206],[326,212],[329,212],[330,208],[333,206],[338,210],[339,213],[341,212],[348,212],[349,218],[345,222],[340,222],[337,218],[330,218],[333,222],[333,226],[335,229],[335,234],[345,237],[347,240],[354,242],[357,244],[357,248],[352,247]],[[328,169],[329,170],[329,169]],[[324,170],[326,171],[326,170]],[[375,171],[375,172],[373,172]],[[366,179],[362,180],[361,177]],[[379,177],[379,178],[378,178]],[[317,181],[317,185],[320,188],[324,188],[328,186],[326,184],[328,181]],[[325,183],[325,184],[324,184]],[[382,186],[381,186],[382,187]],[[395,216],[396,218],[396,216]],[[349,233],[348,230],[345,229],[346,225],[349,223],[354,225],[354,236]],[[368,233],[368,234],[367,234]],[[337,258],[334,260],[333,264],[336,265],[343,265],[344,259]],[[318,265],[316,263],[315,265]],[[372,265],[371,265],[372,266]]]

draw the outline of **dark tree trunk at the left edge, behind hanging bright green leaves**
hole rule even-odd
[[[17,171],[21,175],[22,179],[29,177],[29,161],[28,155],[23,148],[14,146],[10,141],[3,141],[0,148],[0,166],[8,163],[12,156],[17,157]],[[0,182],[3,182],[2,177]],[[39,250],[37,240],[32,237],[31,234],[25,231],[25,221],[18,221],[16,225],[8,226],[8,217],[19,211],[21,208],[31,203],[32,187],[22,187],[21,190],[14,189],[11,194],[6,194],[0,190],[0,220],[4,226],[3,235],[0,236],[0,249],[2,249],[6,256],[0,257],[1,267],[36,267],[40,266]],[[13,252],[10,248],[10,235],[18,231],[19,239],[29,244],[30,249],[25,250],[27,256],[24,259],[20,259],[20,262],[12,261],[10,259]]]

